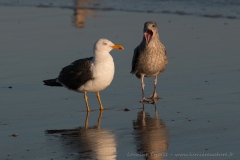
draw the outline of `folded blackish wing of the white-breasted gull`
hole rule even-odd
[[[79,59],[64,67],[58,76],[59,82],[69,89],[76,90],[87,81],[92,79],[93,57]]]

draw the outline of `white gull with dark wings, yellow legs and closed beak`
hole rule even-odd
[[[113,80],[114,62],[109,53],[112,49],[124,48],[107,39],[99,39],[94,44],[92,57],[72,62],[61,70],[57,78],[44,80],[44,85],[64,86],[69,90],[83,93],[88,112],[90,108],[87,92],[96,92],[100,110],[103,110],[99,91],[104,90]]]

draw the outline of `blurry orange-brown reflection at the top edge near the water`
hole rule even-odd
[[[73,23],[77,28],[84,28],[86,16],[92,14],[93,10],[86,9],[89,0],[74,0]]]

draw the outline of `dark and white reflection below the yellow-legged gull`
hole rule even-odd
[[[108,130],[100,129],[102,111],[97,126],[88,126],[89,113],[84,127],[47,130],[47,134],[60,134],[67,153],[75,153],[76,159],[116,160],[116,137]]]

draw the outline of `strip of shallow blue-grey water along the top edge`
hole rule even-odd
[[[76,5],[81,3],[81,6]],[[240,2],[236,0],[1,0],[0,5],[38,7],[79,7],[94,10],[172,13],[212,18],[240,18]]]

